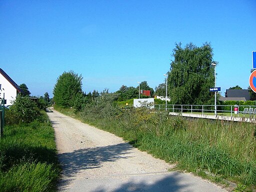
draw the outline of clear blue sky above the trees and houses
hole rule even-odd
[[[1,0],[0,68],[35,96],[52,96],[69,70],[86,93],[143,80],[155,88],[175,42],[208,41],[223,95],[248,87],[255,10],[255,0]]]

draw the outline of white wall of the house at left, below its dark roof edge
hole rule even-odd
[[[6,105],[12,104],[12,101],[15,100],[16,98],[17,89],[14,86],[12,86],[12,84],[4,76],[2,76],[2,74],[0,74],[0,84],[1,84],[0,97],[2,98],[4,93],[4,99],[6,99]]]

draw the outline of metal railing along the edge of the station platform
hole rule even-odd
[[[230,114],[230,116],[235,114],[234,105],[216,105],[217,106],[217,114]],[[237,116],[239,113],[242,113],[243,109],[246,108],[256,108],[256,105],[237,105]],[[186,112],[186,113],[214,113],[214,105],[206,105],[206,104],[154,104],[155,109],[159,110],[167,110],[169,112]]]

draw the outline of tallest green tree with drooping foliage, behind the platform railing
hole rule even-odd
[[[174,60],[170,63],[167,87],[173,104],[212,104],[214,93],[214,67],[211,66],[212,48],[205,42],[197,47],[192,43],[184,48],[176,43]],[[214,62],[216,63],[216,62]]]

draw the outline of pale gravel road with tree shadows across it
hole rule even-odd
[[[53,109],[47,114],[63,168],[59,191],[226,191],[190,173],[168,171],[173,165],[114,134]]]

